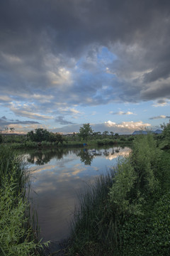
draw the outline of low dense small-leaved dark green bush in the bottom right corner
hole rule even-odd
[[[166,193],[152,207],[145,206],[145,215],[131,215],[120,227],[123,245],[120,255],[170,254],[170,193]]]

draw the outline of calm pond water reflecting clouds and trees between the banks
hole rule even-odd
[[[40,237],[52,241],[67,238],[79,190],[129,152],[128,147],[27,151],[32,171],[30,196],[35,208],[38,206]]]

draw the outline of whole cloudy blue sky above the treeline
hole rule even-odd
[[[170,119],[170,1],[1,0],[0,131]]]

